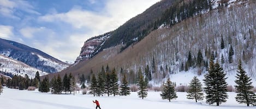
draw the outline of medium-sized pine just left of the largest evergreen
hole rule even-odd
[[[194,76],[194,78],[189,83],[189,89],[188,89],[188,99],[195,99],[195,102],[198,102],[198,100],[204,99],[204,93],[202,92],[202,84],[197,78],[197,76]]]

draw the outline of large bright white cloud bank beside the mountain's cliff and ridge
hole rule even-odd
[[[106,1],[106,5],[100,12],[88,11],[79,7],[74,7],[68,12],[50,12],[50,14],[40,16],[38,18],[39,23],[53,23],[58,27],[69,24],[71,25],[68,27],[70,30],[55,31],[55,34],[51,34],[51,37],[45,38],[44,43],[33,41],[34,47],[62,61],[74,61],[87,39],[115,30],[158,1],[160,0],[109,0]],[[22,33],[22,30],[20,32]],[[29,29],[23,30],[23,35],[34,36],[33,33],[29,34],[28,32]]]

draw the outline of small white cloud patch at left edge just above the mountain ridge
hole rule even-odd
[[[10,39],[13,36],[13,27],[9,25],[0,25],[0,37],[3,39]]]

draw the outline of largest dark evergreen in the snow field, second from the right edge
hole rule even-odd
[[[227,101],[227,82],[225,81],[225,73],[223,68],[219,65],[218,61],[216,63],[211,59],[209,71],[205,74],[205,93],[206,93],[206,103],[213,104],[216,102],[217,106],[222,102]]]

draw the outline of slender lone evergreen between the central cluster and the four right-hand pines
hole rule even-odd
[[[139,98],[146,98],[147,97],[147,84],[144,81],[144,78],[142,75],[140,75],[140,80],[138,81],[138,86],[139,86]]]

